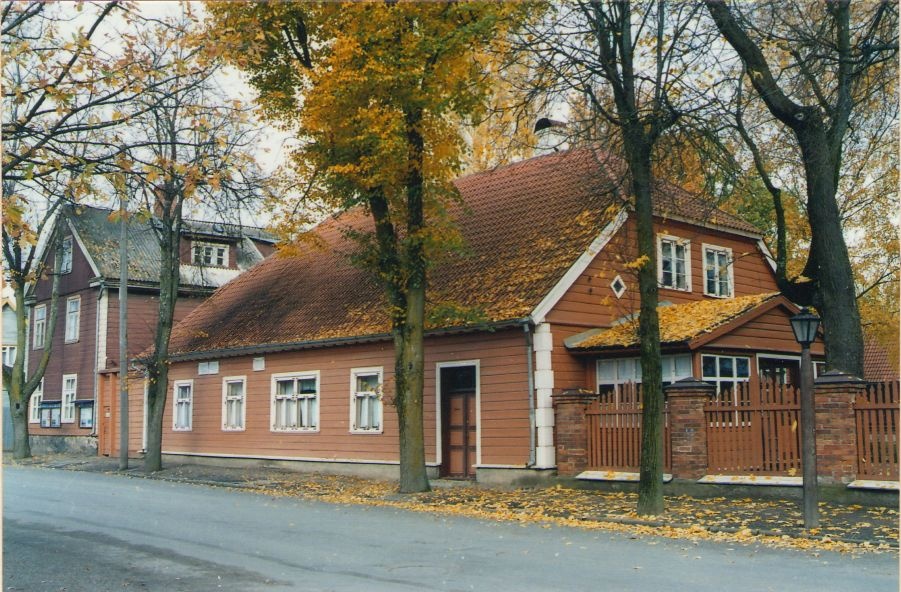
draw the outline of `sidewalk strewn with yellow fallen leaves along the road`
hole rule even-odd
[[[4,464],[12,461],[4,457]],[[48,469],[119,474],[118,460],[106,457],[44,456],[16,463]],[[652,519],[635,513],[636,494],[549,487],[491,489],[471,483],[432,482],[433,491],[400,494],[394,482],[347,476],[297,473],[275,468],[232,468],[170,464],[147,476],[132,460],[122,474],[243,489],[273,497],[315,499],[335,504],[391,506],[417,512],[455,514],[488,520],[557,524],[734,543],[760,543],[819,551],[865,552],[898,549],[897,508],[820,503],[821,527],[806,532],[799,504],[784,500],[667,497],[666,514]]]

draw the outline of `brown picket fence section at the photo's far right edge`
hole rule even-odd
[[[898,480],[898,386],[871,383],[854,401],[858,479]]]

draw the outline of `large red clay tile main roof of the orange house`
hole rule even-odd
[[[461,312],[437,314],[432,328],[513,321],[537,306],[619,210],[598,158],[593,150],[574,150],[455,182],[462,204],[450,213],[465,246],[430,270],[429,310]],[[682,191],[659,201],[664,215],[694,218],[709,210]],[[721,226],[757,233],[719,210],[715,217]],[[362,210],[347,212],[318,227],[321,248],[270,257],[245,272],[175,328],[171,354],[388,333],[380,288],[348,258],[359,247],[344,231],[371,226]]]

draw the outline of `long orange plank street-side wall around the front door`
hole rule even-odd
[[[481,389],[482,463],[524,465],[529,456],[528,377],[521,330],[429,338],[425,365],[425,446],[436,460],[435,364],[478,359]],[[265,355],[254,372],[252,357],[223,358],[219,373],[197,375],[197,362],[173,364],[170,381],[194,380],[193,429],[172,430],[171,383],[163,450],[247,456],[395,461],[397,413],[384,409],[382,434],[350,433],[350,372],[381,366],[387,390],[394,375],[390,342]],[[270,431],[271,375],[320,372],[319,433]],[[222,431],[222,379],[247,377],[246,429]]]

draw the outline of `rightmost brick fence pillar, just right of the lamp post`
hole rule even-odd
[[[814,382],[817,430],[817,478],[821,483],[850,483],[857,474],[854,400],[867,383],[838,370]]]

